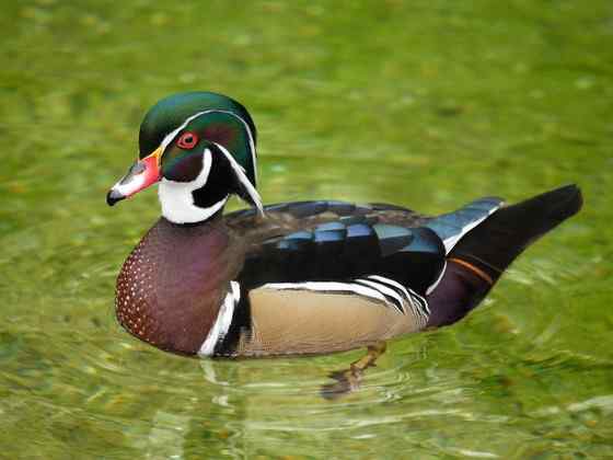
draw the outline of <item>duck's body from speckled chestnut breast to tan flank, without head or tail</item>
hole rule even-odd
[[[175,353],[265,356],[349,349],[427,324],[416,291],[407,297],[405,288],[368,278],[385,274],[418,291],[436,279],[444,263],[440,241],[426,228],[409,230],[423,218],[339,202],[265,212],[187,227],[161,218],[118,277],[122,325]],[[406,272],[412,260],[426,262],[418,276]],[[224,317],[212,348],[204,347]]]

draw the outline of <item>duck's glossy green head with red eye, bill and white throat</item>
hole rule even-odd
[[[160,183],[162,215],[195,223],[235,194],[262,212],[256,191],[256,131],[236,101],[210,92],[158,102],[140,125],[139,159],[106,195],[109,206]]]

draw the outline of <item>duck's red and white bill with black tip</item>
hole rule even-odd
[[[160,181],[161,151],[162,149],[159,148],[150,156],[138,160],[130,166],[127,174],[106,194],[106,203],[108,206],[113,206],[122,199],[129,198]]]

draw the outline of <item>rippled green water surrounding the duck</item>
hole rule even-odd
[[[613,457],[613,3],[158,3],[2,2],[0,458]],[[104,197],[143,112],[193,89],[252,112],[268,203],[577,182],[586,206],[346,398],[319,390],[361,352],[166,355],[113,313],[155,193]]]

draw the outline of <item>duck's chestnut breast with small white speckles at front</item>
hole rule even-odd
[[[115,307],[132,335],[177,354],[196,354],[211,329],[242,251],[229,250],[221,219],[177,226],[161,218],[128,256]]]

